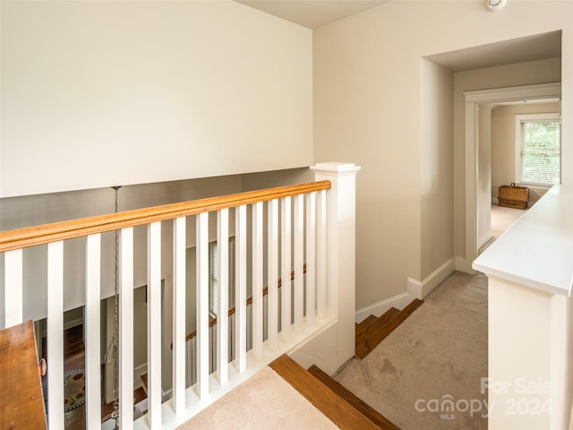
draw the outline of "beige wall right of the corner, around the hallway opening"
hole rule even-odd
[[[403,293],[407,278],[423,280],[444,258],[465,258],[465,150],[463,102],[454,82],[453,229],[454,251],[446,244],[422,244],[422,124],[433,116],[436,127],[451,121],[447,110],[423,111],[421,58],[468,47],[563,30],[564,129],[573,118],[573,3],[509,2],[488,12],[483,1],[394,1],[314,31],[314,159],[350,159],[362,166],[357,176],[356,306],[378,303]],[[557,76],[538,82],[559,81]],[[463,90],[536,81],[534,72],[491,70]],[[458,74],[458,73],[457,73]],[[425,103],[425,102],[424,102]],[[443,115],[441,115],[443,114]],[[569,114],[569,116],[567,116]],[[565,118],[568,118],[567,120]],[[461,125],[460,125],[461,124]],[[573,176],[573,145],[564,131],[566,168]],[[569,142],[569,143],[568,143]],[[566,153],[565,153],[566,152]],[[429,168],[432,171],[432,168]],[[450,208],[435,207],[433,219]],[[440,259],[432,253],[440,249]],[[422,251],[421,251],[422,250]],[[424,255],[421,255],[423,253]],[[427,266],[427,262],[432,262]]]

